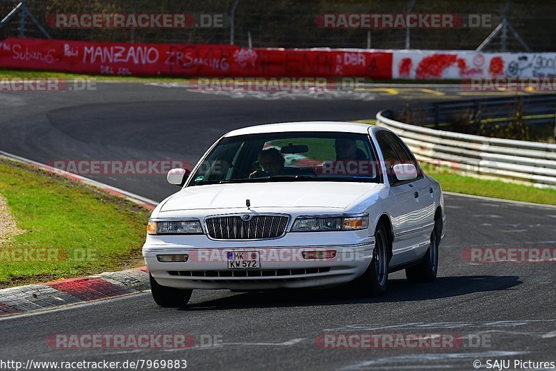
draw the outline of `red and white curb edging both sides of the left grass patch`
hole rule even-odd
[[[38,169],[58,174],[89,186],[100,188],[112,195],[124,197],[136,204],[153,210],[158,202],[120,188],[56,169],[27,158],[0,151],[0,158],[24,163]],[[150,290],[149,271],[139,267],[122,272],[107,272],[94,276],[61,279],[47,283],[4,288],[0,290],[0,318],[8,315],[44,311],[60,306],[93,302],[101,299],[133,295]]]

